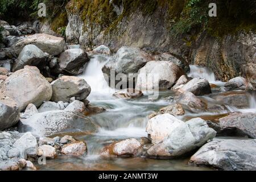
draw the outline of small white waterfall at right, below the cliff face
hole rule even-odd
[[[189,68],[190,68],[190,72],[188,73],[189,77],[192,77],[192,78],[197,78],[197,77],[205,78],[209,82],[215,82],[216,81],[214,73],[210,69],[208,69],[208,68],[200,67],[200,66],[197,66],[197,65],[189,65]]]

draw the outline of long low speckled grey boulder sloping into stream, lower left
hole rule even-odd
[[[31,131],[39,137],[68,131],[96,131],[96,125],[88,118],[71,111],[55,110],[32,115],[21,119],[18,127],[20,132]]]

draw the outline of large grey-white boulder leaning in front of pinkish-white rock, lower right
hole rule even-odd
[[[186,155],[216,136],[216,131],[201,118],[193,118],[187,122],[170,121],[168,133],[163,142],[154,144],[147,150],[148,156],[175,158]]]

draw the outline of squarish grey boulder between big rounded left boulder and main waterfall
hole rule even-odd
[[[76,100],[85,100],[90,94],[90,85],[83,78],[75,76],[61,76],[53,81],[52,85],[52,101],[69,102],[71,97]]]

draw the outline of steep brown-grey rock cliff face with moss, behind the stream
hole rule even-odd
[[[65,6],[65,35],[67,42],[84,48],[104,44],[113,51],[133,46],[151,53],[169,52],[189,64],[213,69],[222,81],[243,76],[256,84],[255,22],[236,15],[232,23],[225,19],[214,24],[220,20],[191,15],[205,7],[208,10],[208,4],[200,0],[72,0]],[[225,9],[218,12],[225,17]]]

